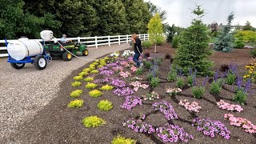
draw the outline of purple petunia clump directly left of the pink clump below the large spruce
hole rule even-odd
[[[178,119],[178,115],[175,113],[173,106],[170,105],[169,102],[162,101],[162,102],[155,102],[153,105],[154,110],[159,110],[168,120],[171,119]]]

